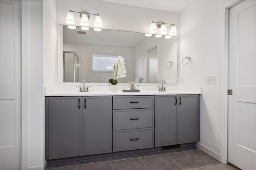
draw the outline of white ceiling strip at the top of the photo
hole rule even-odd
[[[164,10],[169,12],[182,12],[198,0],[101,0],[117,4],[138,6],[155,10]]]

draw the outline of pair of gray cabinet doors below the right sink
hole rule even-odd
[[[199,141],[199,95],[161,95],[155,101],[155,147]]]

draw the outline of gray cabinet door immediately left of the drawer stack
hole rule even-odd
[[[112,152],[112,96],[83,97],[83,155]]]

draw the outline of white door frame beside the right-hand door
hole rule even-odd
[[[224,90],[224,95],[221,96],[222,99],[224,99],[224,131],[222,134],[220,134],[220,140],[224,135],[224,143],[223,146],[220,146],[220,160],[223,160],[224,164],[228,163],[228,38],[229,38],[229,10],[233,6],[236,6],[240,2],[244,0],[237,0],[233,4],[227,6],[225,8],[225,46],[224,46],[224,87],[220,87],[221,94],[223,94]],[[223,156],[223,158],[222,158]]]

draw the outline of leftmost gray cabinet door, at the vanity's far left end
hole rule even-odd
[[[82,98],[50,97],[49,159],[82,156]]]

